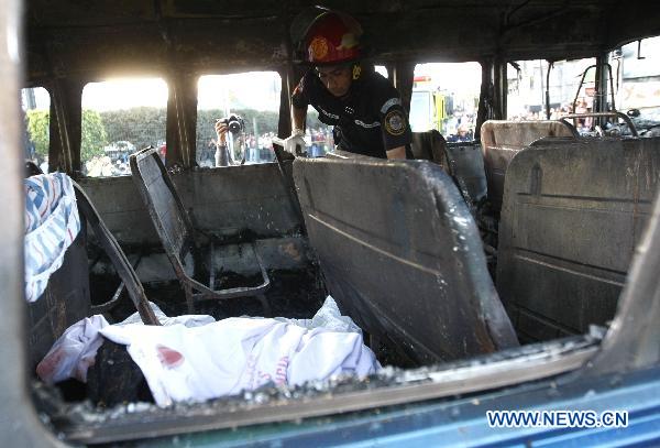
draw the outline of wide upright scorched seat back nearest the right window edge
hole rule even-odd
[[[512,161],[497,289],[521,340],[614,317],[660,185],[660,139],[541,140]]]

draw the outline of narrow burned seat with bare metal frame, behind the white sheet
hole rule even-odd
[[[217,289],[217,280],[224,267],[217,262],[217,243],[211,236],[193,226],[157,150],[146,147],[132,154],[131,172],[167,258],[185,291],[189,313],[195,312],[195,302],[200,299],[255,297],[262,303],[264,313],[270,314],[264,293],[271,282],[254,242],[248,244],[248,248],[254,254],[261,284]]]

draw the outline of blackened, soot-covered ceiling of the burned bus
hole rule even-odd
[[[382,63],[558,61],[660,34],[649,13],[660,7],[641,0],[338,0],[332,6],[363,24],[372,56]],[[86,8],[73,0],[30,0],[24,8],[28,79],[284,66],[290,61],[289,25],[304,8],[299,1],[266,0],[135,0],[120,6],[91,0]]]

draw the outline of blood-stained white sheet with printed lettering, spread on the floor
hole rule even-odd
[[[267,383],[297,385],[340,374],[365,376],[381,368],[364,346],[360,328],[340,315],[330,296],[310,320],[208,319],[186,316],[162,327],[124,321],[98,332],[127,346],[161,406],[252,391]]]

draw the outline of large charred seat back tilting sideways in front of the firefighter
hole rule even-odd
[[[330,294],[411,364],[517,345],[474,221],[426,161],[297,159],[294,178]]]

